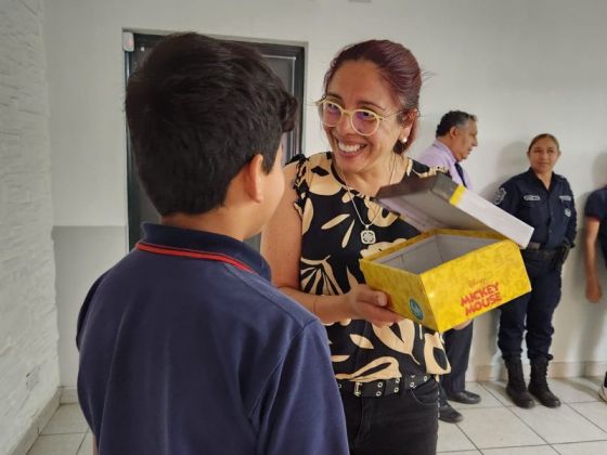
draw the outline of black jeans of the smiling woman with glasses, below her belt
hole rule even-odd
[[[438,385],[382,398],[341,393],[351,455],[435,455]]]

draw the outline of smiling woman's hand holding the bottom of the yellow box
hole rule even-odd
[[[373,290],[367,285],[356,285],[345,295],[345,298],[352,314],[373,325],[389,326],[404,318],[388,310],[389,298],[385,292]]]

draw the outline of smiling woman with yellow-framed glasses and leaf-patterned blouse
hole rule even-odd
[[[317,102],[331,151],[287,165],[287,191],[262,234],[276,286],[326,325],[352,454],[436,453],[435,376],[449,370],[441,339],[391,312],[359,268],[362,256],[418,234],[371,196],[436,173],[404,156],[421,84],[401,44],[341,50]]]

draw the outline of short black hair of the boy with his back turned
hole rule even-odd
[[[255,49],[189,32],[154,47],[125,106],[139,178],[167,216],[220,206],[257,154],[269,172],[297,101]]]

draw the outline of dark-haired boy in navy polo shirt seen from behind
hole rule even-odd
[[[80,311],[78,394],[101,455],[348,453],[324,328],[242,242],[281,199],[296,108],[256,51],[196,34],[158,42],[129,79],[162,224]]]

